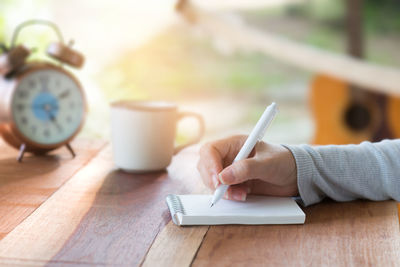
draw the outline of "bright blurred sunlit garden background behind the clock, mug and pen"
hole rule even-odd
[[[347,53],[346,1],[220,0],[191,1],[216,13],[289,40],[340,54]],[[275,101],[280,114],[266,140],[308,143],[314,134],[309,105],[315,73],[265,54],[237,50],[185,21],[172,0],[2,0],[0,42],[27,19],[57,23],[66,40],[86,56],[82,81],[90,113],[81,136],[108,138],[109,103],[120,99],[170,100],[181,110],[201,113],[204,140],[248,133],[265,106]],[[365,0],[364,59],[400,68],[400,2]],[[44,49],[55,36],[31,27],[19,42]],[[40,54],[38,55],[40,56]],[[179,141],[196,126],[179,127]]]

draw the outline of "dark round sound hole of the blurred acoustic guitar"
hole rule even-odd
[[[352,130],[361,131],[370,124],[371,114],[365,106],[352,104],[345,113],[345,120]]]

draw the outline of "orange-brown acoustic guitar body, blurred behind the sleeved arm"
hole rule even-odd
[[[315,118],[314,144],[358,144],[400,138],[399,97],[368,92],[317,75],[311,85],[310,102]]]

